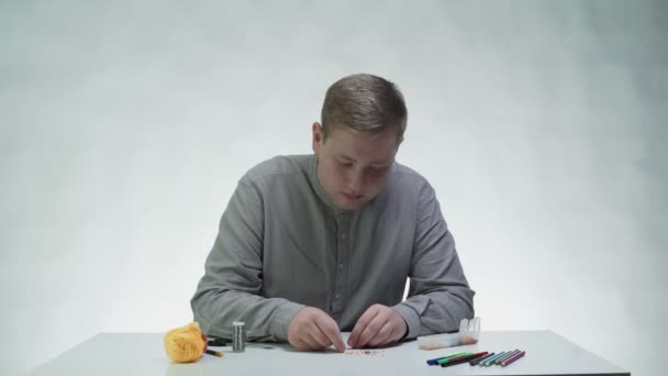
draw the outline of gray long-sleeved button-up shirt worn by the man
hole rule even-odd
[[[232,338],[241,320],[248,339],[286,341],[303,306],[327,312],[342,331],[370,306],[388,306],[405,320],[408,339],[456,331],[474,316],[475,292],[421,175],[394,163],[376,198],[343,211],[316,166],[315,155],[280,156],[240,180],[191,301],[204,333]]]

